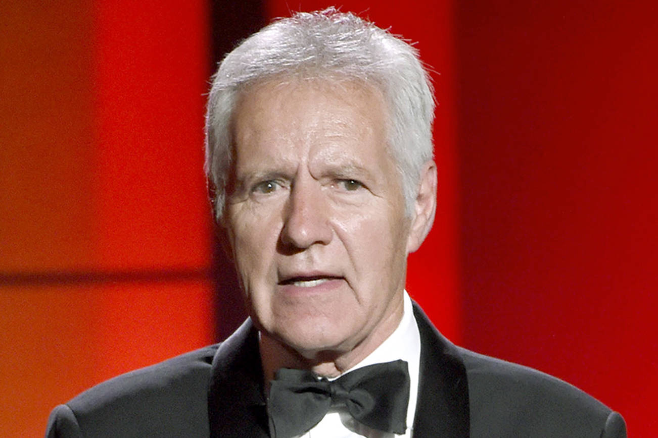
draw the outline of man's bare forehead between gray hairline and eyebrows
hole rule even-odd
[[[240,146],[328,146],[341,139],[386,137],[386,120],[382,93],[363,81],[284,77],[261,81],[240,93],[233,133]]]

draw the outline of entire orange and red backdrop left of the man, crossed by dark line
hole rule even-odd
[[[0,3],[3,436],[213,341],[207,11],[174,6]]]

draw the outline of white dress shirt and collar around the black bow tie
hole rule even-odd
[[[397,361],[402,359],[407,361],[409,366],[409,407],[407,408],[407,430],[403,435],[396,433],[386,433],[356,422],[347,412],[346,408],[330,410],[318,424],[311,430],[298,438],[393,438],[403,437],[411,438],[413,435],[413,419],[416,411],[416,400],[418,397],[418,368],[420,366],[420,333],[416,324],[416,318],[413,316],[411,307],[411,298],[404,292],[404,314],[399,326],[395,331],[386,338],[382,344],[377,347],[363,361],[359,362],[343,374],[361,368],[363,366]],[[340,377],[340,376],[338,376]],[[338,378],[336,377],[336,379]],[[334,379],[330,379],[334,380]]]

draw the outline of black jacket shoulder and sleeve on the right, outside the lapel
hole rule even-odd
[[[471,437],[626,437],[623,418],[575,386],[458,349],[467,370]]]

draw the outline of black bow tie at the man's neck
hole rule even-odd
[[[273,437],[305,433],[332,406],[346,406],[358,422],[372,429],[405,433],[409,405],[407,362],[364,366],[332,382],[311,371],[281,368],[270,385],[267,408]]]

